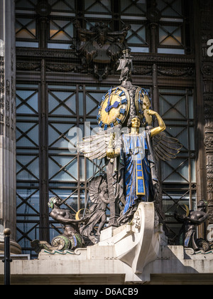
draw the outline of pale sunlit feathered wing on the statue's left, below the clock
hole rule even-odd
[[[102,159],[107,155],[107,148],[111,134],[114,133],[114,127],[97,132],[96,135],[84,137],[82,142],[78,142],[77,147],[90,160]]]

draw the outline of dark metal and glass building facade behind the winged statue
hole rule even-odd
[[[158,165],[170,244],[180,205],[196,209],[204,199],[213,224],[212,9],[210,0],[0,0],[0,224],[11,228],[17,252],[33,258],[33,239],[60,232],[51,196],[76,213],[89,179],[104,172],[104,161],[75,150],[75,128],[83,136],[97,129],[125,46],[133,83],[148,90],[166,133],[182,144],[175,160]],[[206,238],[207,225],[198,235]]]

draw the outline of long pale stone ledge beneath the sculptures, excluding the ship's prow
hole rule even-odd
[[[88,248],[87,248],[88,249]],[[177,280],[190,275],[195,276],[195,281],[204,281],[209,274],[213,276],[213,254],[209,253],[208,259],[200,260],[201,253],[192,255],[193,259],[185,258],[184,248],[182,246],[161,246],[161,253],[158,258],[148,263],[143,268],[143,273],[133,273],[133,269],[126,263],[119,261],[114,256],[111,246],[92,246],[92,251],[87,249],[81,254],[75,254],[75,259],[70,258],[70,254],[48,255],[42,254],[38,260],[13,260],[11,263],[11,278],[13,283],[25,283],[31,280],[33,283],[42,283],[42,278],[48,284],[63,284],[70,281],[74,284],[78,281],[85,281],[94,284],[110,284],[110,277],[114,277],[114,283],[151,283],[152,277],[160,277],[165,282]],[[95,258],[96,250],[103,251],[103,256],[99,254],[99,258]],[[203,255],[202,255],[203,256]],[[4,263],[0,262],[0,284],[4,276]],[[59,279],[59,277],[61,277]],[[102,278],[102,279],[101,279]],[[45,281],[43,284],[45,284]],[[190,280],[192,283],[192,279]],[[208,280],[209,281],[209,280]],[[83,283],[83,281],[82,281]]]

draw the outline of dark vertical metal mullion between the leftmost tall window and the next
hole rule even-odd
[[[48,1],[38,1],[38,5],[48,5]],[[38,36],[39,48],[46,49],[48,45],[48,15],[40,14],[38,12]],[[41,59],[40,68],[40,88],[38,100],[38,114],[39,114],[39,191],[40,191],[40,226],[39,239],[48,241],[50,239],[49,233],[49,213],[48,213],[48,91],[46,85],[46,61]]]

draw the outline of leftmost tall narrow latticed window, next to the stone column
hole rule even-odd
[[[38,85],[16,85],[17,241],[30,253],[39,223]],[[32,221],[37,221],[31,224]],[[27,237],[26,237],[27,236]]]

